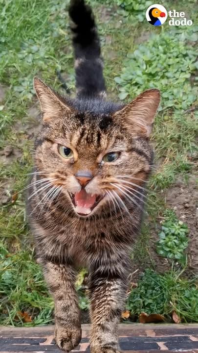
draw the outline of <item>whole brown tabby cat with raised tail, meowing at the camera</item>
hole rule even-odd
[[[128,104],[106,101],[100,40],[91,8],[71,0],[75,99],[35,77],[43,127],[35,141],[27,213],[55,302],[55,340],[81,340],[75,279],[88,268],[91,353],[118,353],[130,254],[141,226],[157,89]]]

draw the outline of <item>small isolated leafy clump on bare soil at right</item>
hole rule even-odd
[[[163,257],[185,263],[185,249],[188,246],[188,227],[175,218],[167,218],[161,227],[156,252]]]

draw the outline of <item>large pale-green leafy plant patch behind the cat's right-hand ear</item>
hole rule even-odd
[[[191,86],[189,77],[197,69],[197,54],[186,44],[188,35],[162,31],[129,53],[121,76],[115,77],[120,99],[155,87],[161,91],[164,110],[185,110],[196,101],[197,88]]]

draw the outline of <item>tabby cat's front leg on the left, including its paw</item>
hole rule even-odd
[[[55,340],[66,352],[81,340],[81,322],[75,291],[76,272],[71,265],[44,262],[44,275],[55,303]]]

